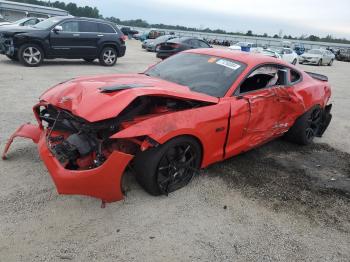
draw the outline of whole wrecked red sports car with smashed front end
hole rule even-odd
[[[331,120],[326,76],[219,49],[182,52],[141,74],[82,77],[47,90],[31,138],[61,194],[123,198],[127,166],[152,195],[200,168],[285,136],[309,144]],[[252,159],[252,161],[254,161]]]

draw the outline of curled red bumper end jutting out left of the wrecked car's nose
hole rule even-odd
[[[5,149],[2,153],[2,159],[3,160],[6,159],[6,154],[9,151],[13,140],[16,137],[29,138],[29,139],[33,140],[33,142],[35,144],[37,144],[39,142],[41,133],[42,133],[42,129],[37,125],[33,125],[33,124],[29,124],[29,123],[21,125],[19,128],[17,128],[17,130],[11,135],[11,137],[7,141],[7,143],[5,145]]]

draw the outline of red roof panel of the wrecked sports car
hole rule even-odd
[[[281,64],[281,65],[291,67],[290,64],[288,64],[287,62],[284,62],[283,60],[265,56],[259,53],[240,52],[240,51],[232,51],[229,49],[218,49],[218,48],[190,49],[185,52],[203,54],[203,55],[212,55],[212,56],[232,59],[232,60],[247,64],[249,67],[253,67],[255,65],[263,64],[263,63],[274,63],[274,64]]]

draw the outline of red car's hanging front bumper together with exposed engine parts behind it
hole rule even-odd
[[[87,195],[113,202],[123,199],[122,176],[137,145],[127,140],[109,139],[116,132],[116,119],[89,123],[70,112],[40,103],[34,108],[38,125],[22,125],[11,136],[38,144],[60,194]]]

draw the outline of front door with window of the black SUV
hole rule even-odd
[[[50,53],[55,57],[71,57],[79,48],[79,23],[76,20],[64,21],[61,31],[50,32]]]

